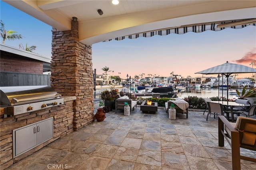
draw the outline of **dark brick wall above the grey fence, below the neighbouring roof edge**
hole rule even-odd
[[[13,55],[5,51],[1,51],[0,68],[1,71],[43,74],[42,61],[28,59],[20,55]]]

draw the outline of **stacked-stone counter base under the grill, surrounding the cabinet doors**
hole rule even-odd
[[[73,119],[74,119],[74,110],[73,103],[76,97],[64,97],[64,105],[59,105],[51,107],[48,109],[43,109],[40,111],[34,111],[30,113],[24,113],[16,116],[4,118],[4,111],[2,112],[1,108],[1,118],[0,118],[0,166],[1,169],[6,169],[12,164],[18,162],[21,159],[26,158],[27,156],[33,154],[40,148],[46,146],[50,142],[65,136],[66,134],[73,131]],[[54,118],[54,138],[48,140],[36,146],[32,150],[13,158],[12,148],[13,148],[13,134],[12,130],[44,119],[53,117]]]

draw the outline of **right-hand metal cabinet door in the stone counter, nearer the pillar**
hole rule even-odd
[[[53,119],[36,124],[37,144],[53,138]]]

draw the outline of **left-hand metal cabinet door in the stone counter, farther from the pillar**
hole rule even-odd
[[[15,131],[15,155],[36,145],[36,125],[31,125]]]

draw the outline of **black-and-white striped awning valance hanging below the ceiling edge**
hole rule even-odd
[[[108,42],[111,40],[120,41],[120,40],[124,40],[125,38],[135,39],[139,37],[152,37],[155,35],[166,36],[172,33],[174,34],[185,34],[187,32],[198,33],[198,32],[204,32],[207,30],[220,31],[220,30],[224,30],[225,28],[240,29],[250,25],[256,26],[256,18],[248,19],[248,20],[232,20],[232,21],[219,21],[219,22],[211,22],[211,23],[200,23],[200,24],[179,26],[176,28],[165,28],[161,30],[153,30],[148,32],[141,32],[137,34],[117,37],[114,39],[106,40],[104,42]]]

